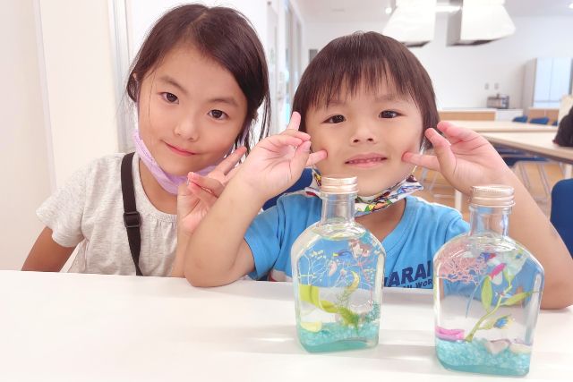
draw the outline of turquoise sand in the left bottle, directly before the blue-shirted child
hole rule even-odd
[[[328,323],[318,332],[311,332],[300,325],[296,326],[298,338],[309,352],[340,352],[363,349],[378,344],[378,321],[367,322],[358,328]]]

